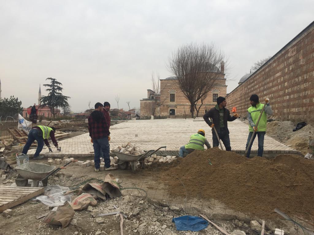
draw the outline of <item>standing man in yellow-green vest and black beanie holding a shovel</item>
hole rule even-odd
[[[252,134],[254,132],[254,137],[252,140],[252,143],[247,151],[246,157],[250,157],[250,152],[251,152],[251,147],[254,142],[255,137],[257,136],[258,138],[258,150],[257,150],[257,156],[262,157],[263,156],[263,151],[264,151],[264,136],[266,134],[266,123],[267,123],[267,115],[272,115],[273,110],[272,107],[269,104],[269,99],[265,99],[266,106],[264,109],[264,112],[262,114],[261,119],[259,120],[258,126],[255,125],[257,122],[264,104],[259,102],[259,98],[256,94],[253,94],[250,97],[250,104],[251,107],[247,109],[247,119],[249,121],[249,136],[247,137],[247,142],[246,142],[246,148],[249,145],[249,142],[251,140]]]

